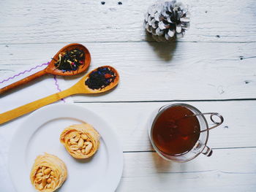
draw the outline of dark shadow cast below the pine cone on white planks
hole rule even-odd
[[[177,42],[156,42],[151,34],[146,33],[146,41],[151,47],[153,47],[154,52],[157,53],[159,58],[163,61],[171,61],[173,58],[173,53],[176,50]]]

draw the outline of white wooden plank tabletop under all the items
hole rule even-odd
[[[153,0],[102,1],[1,0],[0,77],[82,43],[90,69],[109,64],[121,76],[109,94],[73,97],[122,140],[117,191],[256,191],[255,0],[184,0],[191,28],[169,45],[152,42],[143,29]],[[224,116],[211,131],[210,158],[170,163],[152,149],[144,124],[154,109],[175,102]]]

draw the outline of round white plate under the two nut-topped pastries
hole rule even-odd
[[[90,123],[101,135],[97,153],[76,160],[59,142],[61,131],[75,123]],[[33,112],[18,128],[10,146],[9,170],[16,191],[34,192],[29,174],[37,155],[57,155],[67,165],[61,191],[115,191],[123,170],[123,153],[116,134],[93,112],[72,104],[53,104]]]

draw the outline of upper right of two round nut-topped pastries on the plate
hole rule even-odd
[[[89,158],[99,148],[99,137],[90,124],[83,123],[65,128],[60,141],[74,158]]]

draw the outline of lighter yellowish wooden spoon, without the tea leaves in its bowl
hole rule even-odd
[[[110,69],[112,72],[114,72],[114,74],[116,75],[116,78],[113,80],[113,82],[110,82],[110,84],[108,86],[106,86],[105,88],[93,90],[93,89],[89,88],[85,84],[85,82],[89,78],[89,75],[91,74],[91,72],[95,72],[99,68],[102,68],[102,67],[108,67],[108,69]],[[14,110],[10,110],[10,111],[1,113],[0,114],[0,124],[6,123],[9,120],[18,118],[21,115],[25,115],[26,113],[37,110],[40,107],[44,107],[47,104],[51,104],[55,101],[59,101],[60,99],[63,99],[67,96],[71,96],[74,94],[80,94],[80,93],[86,93],[86,94],[103,93],[105,91],[109,91],[110,89],[114,88],[119,82],[119,74],[116,71],[116,69],[114,69],[111,66],[100,66],[99,68],[94,69],[93,71],[86,74],[81,80],[79,80],[75,85],[73,85],[71,88],[68,88],[67,90],[61,91],[59,93],[55,93],[55,94],[47,96],[43,99],[39,99],[37,101],[31,102],[29,104],[25,104],[21,107],[14,109]]]

